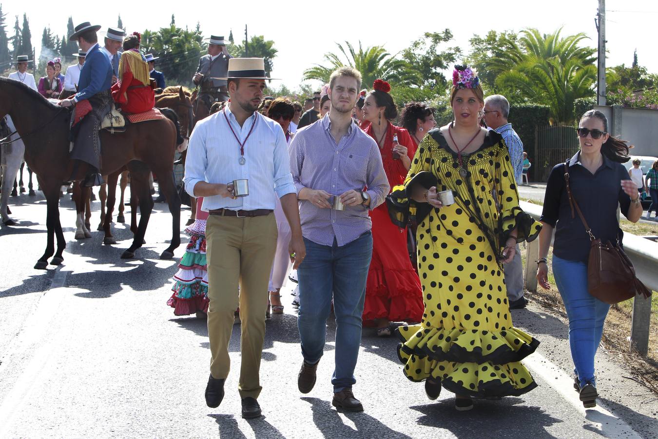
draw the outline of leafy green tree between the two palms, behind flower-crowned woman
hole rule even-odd
[[[442,51],[439,46],[453,39],[450,30],[443,32],[426,32],[422,38],[413,41],[401,52],[404,70],[413,80],[407,80],[393,87],[393,95],[401,101],[428,101],[445,93],[448,82],[443,74],[459,55],[459,47],[447,47]]]

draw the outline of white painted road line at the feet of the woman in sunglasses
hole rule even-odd
[[[523,359],[523,364],[531,369],[536,375],[542,376],[562,398],[574,406],[579,413],[584,415],[590,425],[597,428],[601,436],[605,438],[631,438],[640,439],[642,436],[630,428],[628,424],[615,416],[613,411],[605,408],[597,400],[597,406],[586,409],[578,398],[578,393],[573,388],[573,377],[551,363],[544,355],[535,352]]]

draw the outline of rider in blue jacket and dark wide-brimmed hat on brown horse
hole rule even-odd
[[[101,26],[89,22],[78,24],[75,32],[68,37],[69,41],[78,41],[80,49],[86,53],[85,63],[80,70],[78,91],[70,99],[59,101],[59,105],[71,105],[88,101],[91,111],[73,128],[75,138],[71,159],[88,163],[89,170],[82,186],[99,186],[103,178],[99,174],[101,168],[101,139],[98,130],[101,120],[111,108],[110,87],[112,86],[112,65],[98,47],[96,32]],[[82,107],[88,105],[82,105]],[[80,107],[82,109],[82,107]],[[75,120],[78,108],[74,110],[72,120]]]

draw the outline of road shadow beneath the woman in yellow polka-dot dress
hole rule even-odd
[[[507,397],[500,401],[476,400],[472,411],[456,411],[454,398],[427,405],[409,407],[423,414],[417,423],[448,430],[457,438],[472,438],[474,432],[487,432],[488,438],[528,439],[553,437],[546,428],[563,423],[540,407],[522,405],[521,398]],[[492,430],[506,419],[504,430]],[[484,437],[484,436],[483,436]]]

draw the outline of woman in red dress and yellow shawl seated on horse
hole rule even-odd
[[[155,105],[149,65],[139,53],[139,34],[126,37],[119,60],[119,80],[112,86],[112,98],[126,114],[144,113]]]

